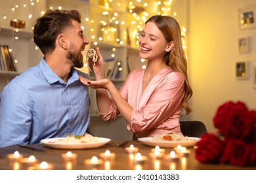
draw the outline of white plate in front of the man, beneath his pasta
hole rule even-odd
[[[66,143],[58,142],[59,139],[64,138],[51,138],[51,139],[43,139],[41,140],[42,144],[50,146],[52,148],[60,148],[60,149],[83,149],[83,148],[98,148],[100,146],[104,146],[104,144],[111,141],[111,139],[106,139],[102,137],[98,137],[99,142],[79,142],[79,143]],[[54,142],[56,141],[56,142]]]

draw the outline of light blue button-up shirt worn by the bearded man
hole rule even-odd
[[[89,126],[89,92],[72,70],[68,84],[42,58],[16,76],[0,95],[0,147],[83,135]]]

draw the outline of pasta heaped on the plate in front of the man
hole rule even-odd
[[[77,144],[77,143],[87,143],[87,142],[99,142],[98,137],[93,137],[89,133],[85,135],[70,135],[67,134],[66,138],[60,138],[55,141],[49,141],[49,143],[63,143],[63,144]]]

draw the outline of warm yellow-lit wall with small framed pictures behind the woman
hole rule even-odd
[[[256,109],[253,67],[256,66],[256,27],[241,30],[238,10],[254,0],[190,0],[188,8],[188,68],[194,95],[191,120],[200,120],[216,132],[213,116],[226,101],[244,101]],[[238,39],[250,37],[250,52],[238,52]],[[249,78],[236,78],[237,61],[249,61]]]

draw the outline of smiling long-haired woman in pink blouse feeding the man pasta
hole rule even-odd
[[[81,76],[80,80],[96,88],[98,113],[102,120],[112,120],[121,113],[127,128],[138,138],[182,134],[179,118],[182,108],[186,114],[191,112],[188,99],[192,96],[192,89],[179,24],[169,16],[152,16],[140,33],[139,48],[140,58],[147,59],[148,65],[146,69],[132,71],[119,91],[105,78],[104,59],[98,50],[96,80]],[[90,67],[93,68],[91,60]]]

